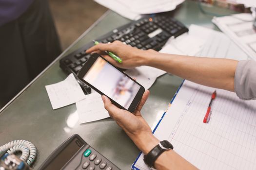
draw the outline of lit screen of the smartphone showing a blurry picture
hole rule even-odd
[[[129,108],[140,88],[137,83],[100,57],[83,76],[83,80],[126,109]]]

